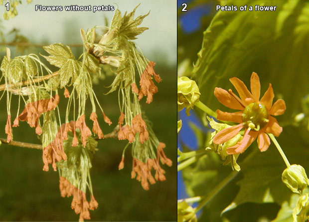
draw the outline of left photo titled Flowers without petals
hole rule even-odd
[[[0,221],[176,221],[176,2],[0,15]]]

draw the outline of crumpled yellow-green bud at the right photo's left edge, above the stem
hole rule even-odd
[[[199,101],[199,89],[194,80],[186,76],[177,79],[177,111],[185,109],[187,116],[189,116],[190,109],[193,108],[194,103]]]

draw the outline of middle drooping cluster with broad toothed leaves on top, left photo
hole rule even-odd
[[[93,29],[94,30],[94,29]],[[93,32],[94,33],[94,32]],[[82,35],[83,37],[83,35]],[[94,37],[94,36],[93,36]],[[99,61],[93,55],[85,52],[83,54],[83,60],[75,60],[75,57],[70,49],[70,47],[63,45],[61,43],[55,43],[49,46],[44,46],[44,49],[50,54],[49,56],[44,56],[52,65],[59,67],[58,75],[53,77],[54,85],[57,87],[65,87],[66,85],[73,85],[73,90],[70,94],[68,89],[65,87],[64,96],[69,98],[66,112],[66,128],[64,135],[68,131],[75,131],[75,129],[80,129],[82,133],[82,143],[85,146],[87,138],[91,135],[91,131],[86,125],[85,122],[85,109],[86,109],[86,100],[90,98],[92,104],[92,114],[90,119],[94,121],[93,133],[97,134],[100,139],[103,138],[102,130],[100,129],[97,115],[96,115],[96,105],[95,99],[96,95],[92,90],[92,74],[96,75],[100,73]],[[71,83],[69,81],[71,79]],[[50,81],[51,85],[53,84]],[[54,88],[55,86],[51,86]],[[75,98],[76,94],[76,98]],[[69,112],[72,109],[75,109],[75,99],[78,99],[78,118],[72,129],[69,128]],[[97,100],[97,99],[96,99]],[[98,103],[104,121],[109,125],[112,124],[111,120],[105,115],[101,105]],[[75,121],[75,119],[73,120]],[[66,136],[65,136],[66,138]],[[73,146],[77,146],[77,138],[73,139]]]

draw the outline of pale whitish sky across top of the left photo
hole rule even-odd
[[[33,0],[27,4],[17,5],[18,15],[12,19],[2,18],[3,9],[0,9],[0,19],[5,27],[5,32],[13,27],[20,30],[20,34],[26,36],[31,42],[52,44],[82,43],[80,28],[87,30],[97,25],[104,25],[104,15],[111,22],[114,11],[65,11],[64,5],[113,5],[120,9],[122,15],[125,11],[131,12],[136,5],[141,3],[135,13],[139,15],[150,14],[144,18],[139,27],[149,27],[135,41],[143,53],[150,60],[154,56],[162,54],[169,64],[175,64],[177,44],[177,7],[175,0]],[[35,11],[35,5],[62,5],[62,11]],[[116,5],[117,4],[117,5]],[[68,28],[69,27],[69,28]],[[70,42],[67,39],[70,36]]]

